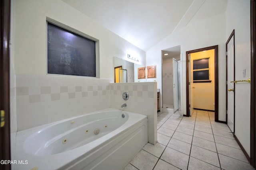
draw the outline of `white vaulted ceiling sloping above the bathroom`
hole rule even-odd
[[[147,51],[189,22],[226,11],[228,0],[62,0]]]

